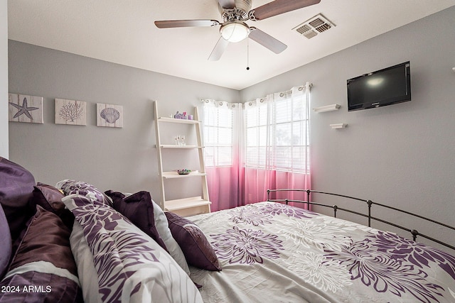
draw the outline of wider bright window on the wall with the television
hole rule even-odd
[[[270,95],[245,106],[246,166],[309,173],[305,94]]]

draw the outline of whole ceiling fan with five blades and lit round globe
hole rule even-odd
[[[223,18],[223,23],[208,19],[164,20],[155,21],[155,25],[157,28],[221,26],[221,37],[212,50],[212,53],[210,53],[210,57],[208,57],[208,60],[210,61],[219,60],[230,42],[240,42],[247,37],[255,40],[265,48],[272,50],[272,52],[279,54],[287,48],[287,45],[258,28],[248,26],[245,21],[259,21],[321,2],[321,0],[275,0],[259,6],[256,9],[251,9],[251,1],[252,0],[218,0],[218,9]]]

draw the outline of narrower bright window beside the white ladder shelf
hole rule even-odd
[[[203,106],[205,165],[232,165],[232,109],[220,101],[205,100]]]

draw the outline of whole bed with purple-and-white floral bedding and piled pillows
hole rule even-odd
[[[183,218],[0,158],[0,202],[0,302],[455,302],[453,254],[287,200]]]

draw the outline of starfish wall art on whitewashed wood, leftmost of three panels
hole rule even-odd
[[[9,121],[43,123],[43,97],[8,94]]]

